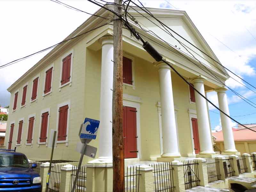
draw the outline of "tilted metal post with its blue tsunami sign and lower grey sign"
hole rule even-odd
[[[84,145],[83,145],[82,150],[81,150],[81,148],[79,149],[79,146],[81,145],[81,143],[77,145],[78,152],[81,151],[81,157],[80,157],[79,164],[78,164],[78,167],[76,170],[76,177],[75,177],[71,192],[74,192],[76,189],[76,182],[77,182],[78,175],[79,175],[79,172],[81,169],[81,164],[82,164],[84,155],[92,157],[92,158],[95,158],[95,156],[96,156],[97,148],[92,147],[90,145],[88,145],[87,151],[86,151],[86,148],[87,148],[87,143],[89,143],[92,139],[96,139],[99,124],[100,124],[100,121],[98,121],[98,120],[85,118],[84,124],[82,124],[80,127],[79,137],[80,137],[81,142],[84,143]]]

